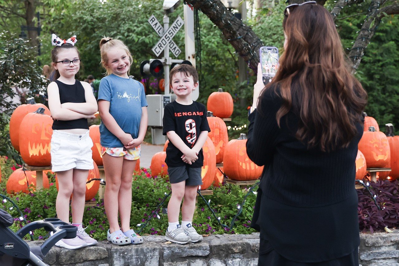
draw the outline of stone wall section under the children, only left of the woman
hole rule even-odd
[[[41,244],[34,242],[29,244]],[[259,233],[211,235],[185,245],[166,244],[164,236],[144,236],[139,245],[101,241],[79,250],[54,246],[44,262],[51,266],[255,266],[258,252]]]

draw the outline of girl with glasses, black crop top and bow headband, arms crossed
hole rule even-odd
[[[67,41],[53,34],[51,50],[53,71],[48,85],[49,109],[53,117],[51,137],[51,170],[57,173],[59,191],[55,202],[57,217],[69,222],[69,199],[73,193],[72,225],[77,226],[77,236],[61,239],[55,245],[77,249],[97,244],[83,228],[86,179],[93,169],[87,119],[95,118],[97,101],[87,82],[75,79],[79,71],[79,51],[74,46],[76,36]]]

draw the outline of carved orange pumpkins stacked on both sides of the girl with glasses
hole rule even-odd
[[[20,152],[22,160],[27,165],[47,167],[51,165],[50,141],[53,134],[53,119],[49,109],[36,103],[34,98],[26,99],[27,104],[18,106],[10,119],[10,140],[14,148]],[[89,171],[87,181],[99,178],[97,165],[103,165],[101,147],[99,145],[99,126],[90,127],[90,137],[93,140],[94,169]],[[96,132],[98,131],[98,132]],[[43,171],[43,187],[49,187],[47,172]],[[57,179],[56,179],[57,181]],[[20,168],[14,171],[8,178],[6,190],[8,194],[17,192],[28,193],[28,187],[36,187],[36,172],[24,171]],[[92,181],[86,185],[86,200],[93,199],[97,194],[100,181]],[[58,186],[57,186],[58,189]]]

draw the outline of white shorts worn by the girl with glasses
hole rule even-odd
[[[54,130],[51,137],[51,171],[69,169],[91,170],[94,168],[91,157],[93,141],[89,130],[84,134],[72,134]]]

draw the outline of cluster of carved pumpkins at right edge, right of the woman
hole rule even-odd
[[[377,121],[373,117],[364,118],[364,132],[359,141],[356,157],[356,179],[363,179],[366,168],[391,168],[391,171],[378,172],[379,179],[395,180],[399,177],[399,136],[394,136],[394,127],[386,124],[386,135],[379,131]]]

